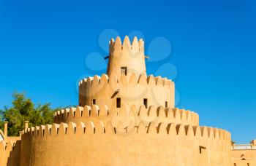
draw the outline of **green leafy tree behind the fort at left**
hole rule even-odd
[[[8,135],[19,135],[24,128],[24,121],[28,120],[30,126],[46,125],[53,123],[53,112],[60,109],[50,108],[50,103],[35,106],[31,99],[26,98],[24,93],[12,95],[12,106],[0,110],[0,125],[3,129],[4,121],[8,123]]]

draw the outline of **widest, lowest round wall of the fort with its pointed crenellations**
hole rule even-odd
[[[211,127],[69,122],[24,131],[20,165],[230,166],[230,141]]]

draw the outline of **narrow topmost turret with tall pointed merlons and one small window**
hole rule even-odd
[[[116,37],[116,41],[111,39],[109,42],[109,60],[107,74],[116,74],[120,76],[125,74],[129,76],[134,73],[146,75],[146,64],[144,55],[143,39],[138,41],[137,37],[129,41],[129,37],[125,36],[123,44],[120,37]]]

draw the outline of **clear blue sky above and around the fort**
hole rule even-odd
[[[0,0],[0,108],[14,91],[53,107],[76,105],[78,79],[104,72],[85,62],[90,52],[107,55],[99,34],[140,31],[146,46],[159,36],[171,42],[171,56],[147,66],[148,74],[176,66],[178,107],[247,143],[256,138],[255,16],[254,0]]]

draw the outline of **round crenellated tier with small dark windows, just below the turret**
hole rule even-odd
[[[169,79],[161,76],[146,76],[144,74],[136,76],[115,74],[102,74],[83,79],[79,83],[79,106],[92,106],[95,104],[105,104],[108,108],[116,108],[116,98],[121,99],[121,103],[135,106],[143,105],[144,99],[148,106],[165,106],[174,108],[175,105],[175,85]]]

